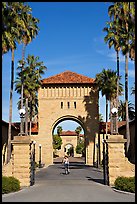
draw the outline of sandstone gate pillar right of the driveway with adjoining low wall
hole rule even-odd
[[[108,177],[109,185],[113,186],[118,176],[132,177],[135,175],[135,165],[125,157],[123,135],[109,135],[108,144]]]

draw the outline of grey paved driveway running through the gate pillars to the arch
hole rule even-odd
[[[100,169],[70,158],[70,174],[61,159],[36,172],[35,185],[2,195],[2,202],[135,202],[135,194],[120,193],[103,184]]]

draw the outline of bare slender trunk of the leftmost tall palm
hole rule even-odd
[[[14,83],[14,49],[12,49],[12,61],[11,61],[11,88],[10,88],[10,107],[9,107],[9,129],[8,129],[8,146],[7,146],[7,163],[10,161],[10,157],[11,157],[11,123],[12,123],[13,83]]]

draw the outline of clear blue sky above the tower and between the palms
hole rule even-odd
[[[109,21],[110,2],[28,2],[32,15],[40,20],[39,35],[27,46],[28,54],[39,56],[47,71],[43,78],[66,70],[95,78],[103,68],[116,70],[116,53],[104,43],[103,28]],[[22,45],[15,51],[15,78]],[[9,90],[11,78],[11,53],[2,58],[2,119],[9,121]],[[121,82],[124,80],[125,63],[120,55]],[[131,87],[135,82],[135,65],[129,60],[129,101],[135,103]],[[12,121],[20,121],[17,110],[19,95],[13,93]],[[124,95],[121,97],[124,100]],[[100,94],[99,112],[105,120],[105,99]],[[64,125],[64,129],[65,129]],[[68,126],[67,126],[68,129]]]

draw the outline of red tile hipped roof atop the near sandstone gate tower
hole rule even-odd
[[[52,77],[41,80],[42,84],[70,84],[70,83],[94,83],[95,79],[89,78],[87,76],[77,74],[71,71],[65,71],[60,74],[54,75]]]

